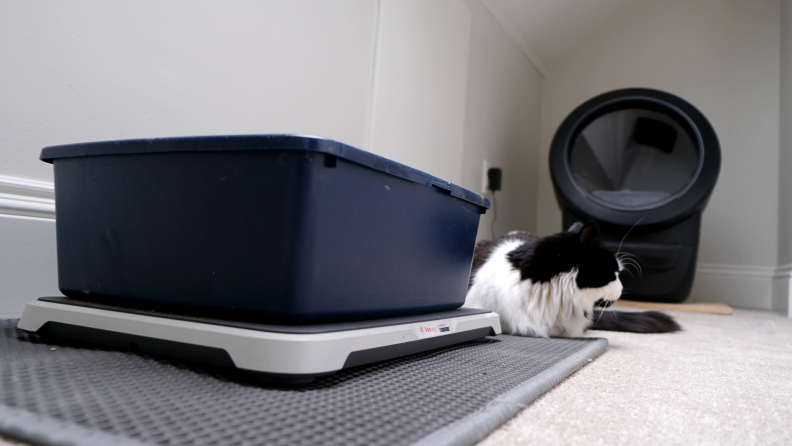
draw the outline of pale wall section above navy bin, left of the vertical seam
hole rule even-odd
[[[377,2],[0,4],[0,175],[52,144],[307,133],[365,145]],[[332,112],[331,112],[332,111]]]

